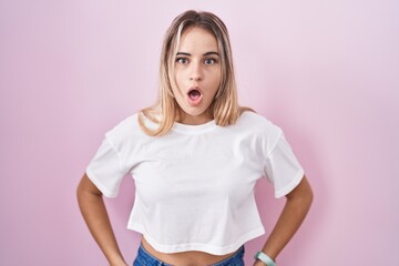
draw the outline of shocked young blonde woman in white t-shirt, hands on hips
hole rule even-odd
[[[265,233],[254,198],[266,176],[286,197],[254,265],[275,265],[313,198],[282,130],[237,103],[225,24],[187,11],[167,30],[156,105],[105,134],[78,187],[83,217],[110,265],[126,265],[102,196],[135,181],[127,227],[142,234],[133,265],[244,265],[244,244]]]

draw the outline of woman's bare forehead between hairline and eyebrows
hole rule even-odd
[[[213,33],[200,27],[187,28],[181,38],[178,52],[217,52],[217,41]]]

